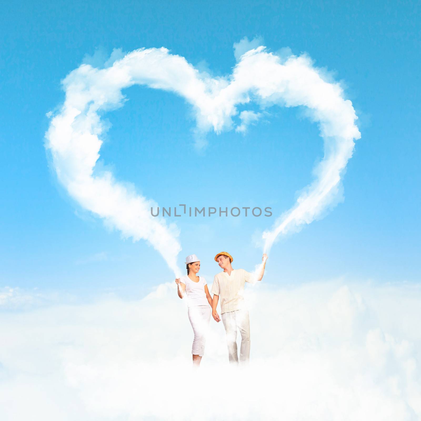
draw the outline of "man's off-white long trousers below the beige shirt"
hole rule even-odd
[[[250,359],[250,321],[247,310],[235,310],[221,314],[226,332],[228,359],[230,363],[238,364],[237,328],[241,333],[240,364],[247,364]]]

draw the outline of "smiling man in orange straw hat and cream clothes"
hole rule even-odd
[[[266,265],[267,255],[262,257],[260,272],[256,275],[257,281],[261,281]],[[250,358],[250,322],[248,310],[244,302],[245,282],[254,282],[253,274],[244,269],[232,269],[232,256],[225,251],[221,251],[215,256],[215,261],[224,269],[215,275],[213,279],[212,291],[212,316],[219,322],[216,306],[221,298],[221,318],[226,332],[226,344],[228,346],[229,362],[238,364],[237,353],[237,329],[241,333],[240,364],[247,364]]]

